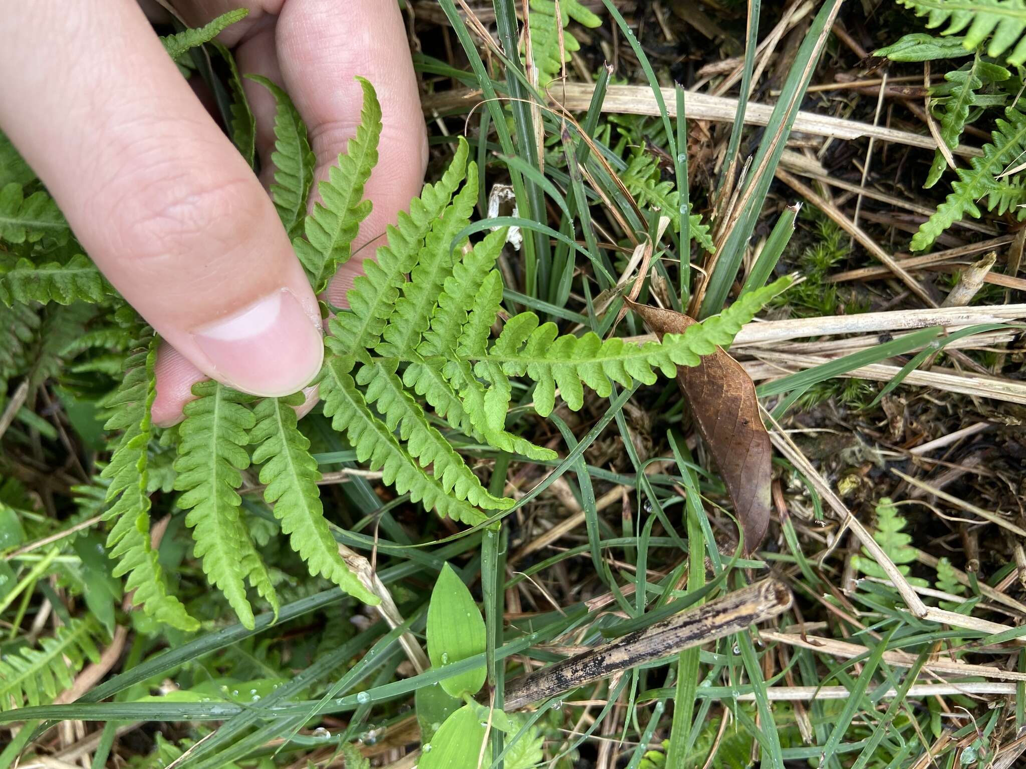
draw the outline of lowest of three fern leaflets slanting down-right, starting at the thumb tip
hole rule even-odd
[[[345,361],[325,356],[318,383],[324,415],[331,417],[331,427],[346,434],[361,462],[369,462],[371,470],[381,469],[385,483],[394,485],[400,494],[408,492],[415,502],[453,521],[473,525],[487,520],[477,509],[447,495],[441,483],[399,445],[388,426],[367,408]]]

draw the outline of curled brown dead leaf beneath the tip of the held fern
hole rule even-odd
[[[672,310],[637,305],[630,308],[660,338],[683,333],[695,320]],[[677,383],[709,444],[719,475],[753,553],[770,525],[773,448],[759,417],[755,385],[734,358],[717,348],[695,367],[678,366]]]

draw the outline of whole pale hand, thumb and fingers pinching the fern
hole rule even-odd
[[[382,105],[373,210],[327,298],[345,307],[387,225],[420,193],[427,136],[395,0],[175,0],[190,26],[249,14],[221,42],[242,73],[292,97],[317,158],[345,151],[361,90]],[[308,388],[320,367],[317,299],[281,227],[272,180],[274,100],[245,82],[261,178],[164,52],[135,0],[24,0],[0,13],[0,128],[39,174],[82,246],[164,340],[154,421],[183,418],[192,386],[253,395]],[[311,196],[316,199],[316,192]],[[311,201],[312,203],[313,201]],[[369,246],[369,247],[368,247]],[[307,389],[308,404],[315,396]]]

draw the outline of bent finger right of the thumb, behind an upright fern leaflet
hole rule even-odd
[[[275,36],[285,88],[310,129],[317,178],[327,175],[359,125],[362,91],[355,76],[369,80],[381,100],[379,160],[364,191],[373,209],[360,226],[353,258],[327,291],[332,303],[343,305],[363,259],[373,255],[378,243],[371,241],[424,181],[427,133],[402,15],[387,0],[286,1]]]

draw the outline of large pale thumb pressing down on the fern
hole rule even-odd
[[[0,125],[122,295],[208,376],[264,396],[306,386],[316,299],[133,0],[13,3],[0,39]]]

